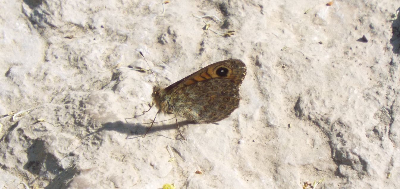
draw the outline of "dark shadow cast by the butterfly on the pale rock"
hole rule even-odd
[[[192,122],[190,121],[178,121],[178,124],[180,127],[184,125],[191,124]],[[123,133],[126,134],[126,139],[134,139],[138,137],[143,137],[148,128],[150,127],[151,123],[124,123],[122,121],[115,121],[115,122],[108,122],[102,124],[102,127],[98,128],[97,130],[89,133],[86,135],[86,137],[90,137],[94,134],[100,133],[104,130],[106,131],[116,131],[118,133]],[[153,125],[151,129],[148,131],[147,137],[156,137],[156,136],[163,136],[164,135],[151,135],[152,133],[156,133],[158,131],[162,130],[169,130],[169,129],[177,129],[176,123],[172,124],[162,124],[162,125]],[[178,134],[179,136],[179,134]],[[166,137],[170,138],[170,137]],[[172,139],[172,138],[170,138]]]

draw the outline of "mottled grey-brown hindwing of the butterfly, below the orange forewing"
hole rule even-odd
[[[240,95],[239,88],[230,80],[214,78],[187,86],[171,99],[177,115],[198,123],[212,123],[228,117],[239,106]]]

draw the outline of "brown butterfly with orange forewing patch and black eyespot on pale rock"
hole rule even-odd
[[[175,119],[178,115],[197,123],[215,123],[228,117],[239,106],[239,87],[244,76],[246,65],[241,60],[216,62],[167,88],[154,86],[153,104],[159,109],[157,114],[172,113]],[[176,124],[179,129],[177,119]]]

